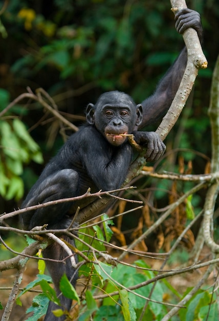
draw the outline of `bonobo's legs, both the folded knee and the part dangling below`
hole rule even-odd
[[[47,174],[47,168],[43,171],[36,184],[32,187],[22,207],[28,207],[41,203],[46,203],[51,200],[73,197],[77,194],[78,189],[78,173],[72,169],[63,169],[50,175]],[[35,226],[48,224],[49,229],[65,229],[70,226],[72,218],[68,217],[68,210],[71,203],[61,203],[54,206],[42,207],[35,211],[28,211],[23,214],[23,224],[26,228],[32,229]],[[63,235],[68,243],[74,246],[74,240],[66,235]],[[68,257],[62,247],[57,243],[53,243],[43,250],[43,257],[51,258],[53,260],[62,260]],[[75,262],[77,263],[77,255],[74,255]],[[68,258],[64,262],[47,261],[47,268],[53,279],[57,295],[60,294],[59,283],[62,275],[65,273],[75,286],[77,279],[77,271],[74,270],[71,260]],[[60,303],[63,309],[69,310],[71,308],[72,300],[65,298],[60,294]],[[52,310],[59,307],[50,302],[49,308],[45,317],[46,321],[64,321],[65,316],[57,318],[53,315]]]

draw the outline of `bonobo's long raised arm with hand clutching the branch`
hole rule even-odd
[[[176,14],[175,20],[176,28],[179,33],[182,34],[188,28],[194,28],[202,42],[202,24],[198,12],[187,8],[180,10]],[[155,93],[142,102],[143,122],[138,127],[139,129],[158,121],[158,119],[169,109],[179,88],[186,64],[187,50],[184,48],[176,62],[161,79]]]

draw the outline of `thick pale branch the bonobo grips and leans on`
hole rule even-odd
[[[186,3],[184,0],[171,0],[172,11],[177,12],[186,8]],[[187,66],[181,81],[180,87],[177,91],[175,98],[166,114],[163,118],[162,123],[157,129],[157,133],[160,135],[162,141],[165,139],[167,134],[170,132],[187,101],[187,98],[191,92],[192,86],[194,84],[196,75],[198,74],[198,68],[206,68],[207,61],[202,52],[202,47],[200,45],[199,37],[194,29],[187,29],[183,38],[187,47],[188,61]],[[145,159],[143,153],[135,160],[135,162],[129,167],[128,175],[125,180],[125,184],[130,182],[135,176],[138,175],[139,171],[145,165]],[[84,222],[86,218],[92,218],[101,214],[101,209],[106,206],[108,199],[103,197],[101,200],[97,200],[91,206],[86,207],[79,212],[78,223]]]

